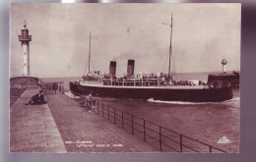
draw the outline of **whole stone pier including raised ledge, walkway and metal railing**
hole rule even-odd
[[[11,106],[11,152],[226,152],[100,101],[89,110],[62,82],[39,85],[18,90]],[[39,89],[48,103],[25,105]]]

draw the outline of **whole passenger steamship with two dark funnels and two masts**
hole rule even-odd
[[[98,97],[130,98],[161,101],[188,102],[220,102],[232,98],[232,88],[229,84],[209,75],[210,81],[175,81],[170,73],[171,34],[170,24],[169,66],[168,73],[157,75],[148,73],[134,74],[135,60],[128,60],[127,74],[116,75],[116,61],[110,61],[109,74],[99,71],[90,72],[91,32],[89,52],[89,73],[79,81],[70,81],[70,90],[74,94],[89,94],[93,92]],[[214,79],[214,80],[213,80]]]

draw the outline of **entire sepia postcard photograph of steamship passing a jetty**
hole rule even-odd
[[[241,5],[10,5],[10,152],[239,153]]]

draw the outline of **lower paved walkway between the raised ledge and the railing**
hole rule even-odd
[[[65,94],[45,97],[68,152],[159,152]]]

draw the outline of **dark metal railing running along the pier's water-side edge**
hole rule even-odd
[[[226,152],[223,149],[187,135],[181,135],[133,114],[111,108],[106,104],[96,102],[96,105],[92,106],[92,103],[87,98],[82,98],[79,93],[75,93],[74,95],[77,96],[74,97],[75,99],[84,100],[80,106],[84,107],[87,111],[91,110],[95,112],[97,115],[130,132],[132,135],[139,135],[144,141],[158,146],[160,151]]]

